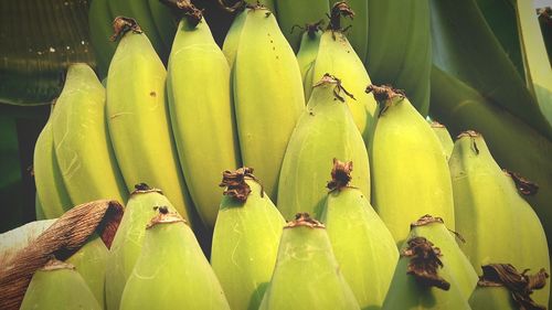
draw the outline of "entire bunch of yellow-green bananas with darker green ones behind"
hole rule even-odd
[[[240,2],[222,49],[201,10],[168,2],[92,3],[106,79],[70,66],[36,142],[36,212],[57,217],[98,199],[126,210],[109,249],[92,236],[52,260],[23,309],[549,303],[545,226],[523,196],[535,186],[505,174],[482,137],[543,146],[532,157],[541,174],[552,145],[432,68],[431,1]],[[136,17],[115,19],[118,43],[106,12]],[[489,116],[482,135],[454,142],[425,119],[429,74],[435,115],[455,131]],[[454,100],[468,104],[457,111]]]

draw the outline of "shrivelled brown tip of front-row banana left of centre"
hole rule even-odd
[[[224,195],[229,195],[240,202],[246,202],[251,193],[251,188],[245,180],[253,180],[259,183],[255,175],[253,175],[253,168],[243,167],[236,171],[226,170],[222,172],[222,182],[219,186],[226,188],[223,192]],[[263,189],[261,189],[261,196],[263,195]]]

